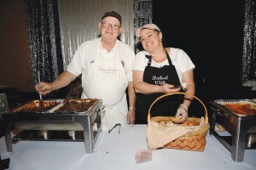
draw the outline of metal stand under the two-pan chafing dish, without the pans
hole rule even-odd
[[[26,122],[35,122],[39,123],[55,123],[55,122],[67,122],[67,123],[75,123],[82,126],[82,130],[84,131],[84,146],[86,153],[93,153],[94,144],[96,139],[101,132],[101,111],[96,110],[92,111],[92,113],[49,113],[49,114],[32,114],[32,113],[9,113],[3,114],[3,120],[8,122],[9,126],[6,128],[5,141],[6,147],[9,152],[12,152],[12,142],[11,138],[11,127],[15,124],[15,122],[21,122],[26,124]],[[96,123],[96,124],[95,124]],[[96,125],[96,130],[93,128]],[[71,129],[73,130],[73,129]],[[47,140],[47,139],[45,139]]]

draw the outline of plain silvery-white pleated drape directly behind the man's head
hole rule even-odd
[[[121,15],[120,40],[134,47],[133,0],[58,0],[58,7],[64,68],[82,42],[98,37],[98,23],[107,11]]]

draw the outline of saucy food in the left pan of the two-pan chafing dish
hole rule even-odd
[[[12,112],[47,112],[54,108],[56,105],[61,104],[63,101],[60,99],[54,100],[32,100],[24,105],[20,105],[13,109]]]

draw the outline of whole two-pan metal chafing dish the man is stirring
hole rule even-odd
[[[12,151],[12,142],[22,139],[30,140],[65,140],[84,141],[85,151],[93,152],[93,146],[101,131],[100,112],[102,110],[101,99],[47,99],[32,100],[20,105],[4,114],[9,121],[6,144],[8,151]],[[10,128],[21,130],[13,138],[10,138]],[[28,133],[27,131],[30,131]],[[68,133],[71,139],[56,139],[55,132]],[[79,133],[80,132],[80,133]],[[82,135],[81,135],[82,132]],[[37,138],[27,138],[37,133]],[[49,133],[51,135],[49,135]],[[79,139],[75,139],[75,133],[79,133]],[[36,135],[35,135],[36,136]],[[43,137],[43,138],[42,138]]]

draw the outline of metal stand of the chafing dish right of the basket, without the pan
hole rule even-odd
[[[234,161],[243,161],[244,150],[247,148],[247,132],[250,128],[256,126],[256,116],[237,116],[225,109],[221,105],[217,105],[214,101],[210,101],[212,109],[212,123],[210,134],[216,137],[224,146],[230,150],[231,157]],[[231,136],[221,136],[216,132],[216,123],[222,125]]]

